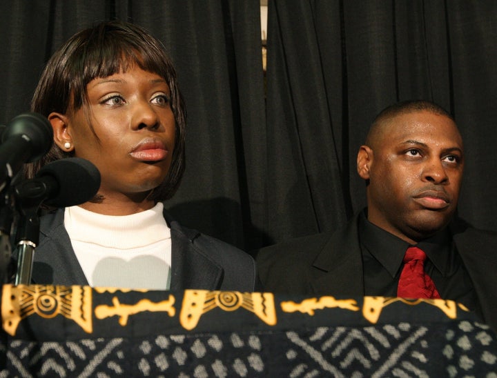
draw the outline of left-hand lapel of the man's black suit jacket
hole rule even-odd
[[[315,293],[364,295],[357,221],[354,217],[347,228],[333,233],[315,258],[311,281]]]

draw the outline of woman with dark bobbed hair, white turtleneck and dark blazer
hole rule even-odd
[[[120,21],[78,32],[48,61],[32,111],[48,118],[55,143],[28,178],[66,157],[101,174],[94,199],[41,217],[36,284],[256,289],[250,255],[164,212],[184,172],[186,110],[157,39]]]

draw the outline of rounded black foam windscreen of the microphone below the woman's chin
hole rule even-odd
[[[43,166],[36,177],[50,175],[58,183],[58,190],[45,203],[64,208],[87,202],[100,188],[100,172],[93,163],[80,157],[68,157]]]

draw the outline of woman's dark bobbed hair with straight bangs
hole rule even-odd
[[[170,90],[175,148],[166,179],[150,194],[150,199],[164,201],[173,197],[185,168],[186,108],[173,63],[162,43],[146,30],[133,23],[104,21],[74,34],[46,64],[31,101],[31,110],[45,117],[52,112],[66,114],[70,107],[79,110],[88,105],[86,86],[90,81],[126,71],[133,65],[164,78]],[[92,131],[95,135],[93,128]],[[98,140],[97,135],[95,138]],[[26,165],[25,175],[32,178],[45,164],[72,154],[54,143],[45,157]]]

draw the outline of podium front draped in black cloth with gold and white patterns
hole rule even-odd
[[[486,376],[494,331],[454,301],[10,286],[0,377]]]

